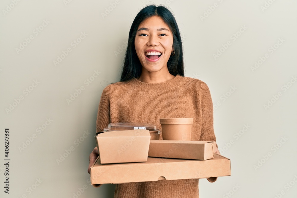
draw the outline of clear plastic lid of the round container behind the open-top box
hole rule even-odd
[[[145,123],[127,123],[127,122],[119,122],[119,123],[110,123],[108,124],[108,129],[111,130],[133,130],[133,129],[146,129],[149,131],[156,131],[157,126],[153,124],[145,124]]]

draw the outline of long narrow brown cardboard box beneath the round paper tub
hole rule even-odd
[[[214,158],[214,147],[210,141],[151,140],[148,156],[206,160]]]

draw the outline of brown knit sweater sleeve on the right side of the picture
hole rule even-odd
[[[208,86],[203,83],[201,94],[202,129],[200,141],[216,141],[214,134],[214,110],[211,94]],[[218,147],[218,145],[217,145]],[[207,178],[209,182],[215,182],[217,177]]]

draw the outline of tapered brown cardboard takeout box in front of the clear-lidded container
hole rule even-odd
[[[102,132],[97,134],[101,164],[147,161],[150,133],[145,129]]]

